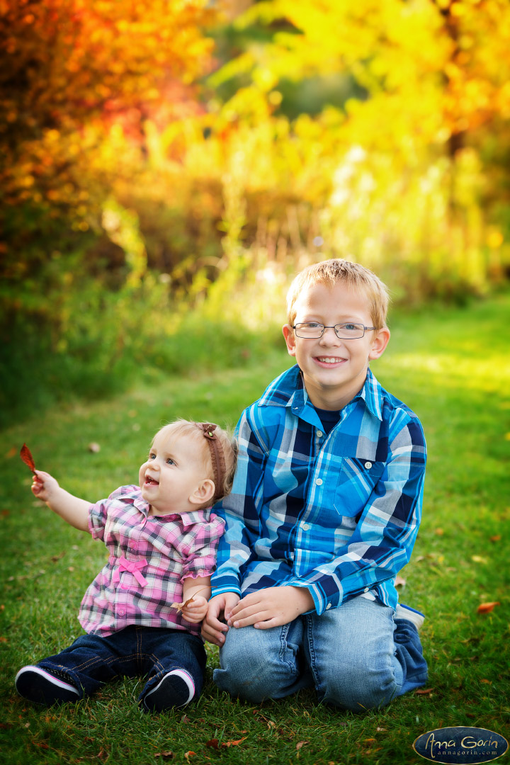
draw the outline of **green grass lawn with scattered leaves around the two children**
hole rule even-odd
[[[139,386],[108,402],[50,409],[0,436],[0,687],[2,761],[13,763],[415,763],[414,739],[469,725],[508,737],[508,520],[510,520],[510,295],[465,310],[398,315],[373,370],[420,415],[429,448],[424,519],[401,600],[427,614],[422,630],[428,695],[409,694],[356,716],[317,705],[312,691],[249,705],[220,693],[211,670],[197,705],[143,715],[140,683],[122,680],[93,698],[36,708],[15,692],[20,666],[57,652],[80,633],[76,612],[105,550],[35,502],[18,457],[90,500],[133,482],[156,428],[176,416],[234,425],[242,407],[290,360]],[[101,451],[89,451],[97,442]],[[486,601],[499,601],[477,614]],[[219,748],[207,742],[218,741]],[[239,744],[222,746],[227,742]],[[303,743],[304,742],[304,743]],[[171,751],[173,757],[158,757]],[[194,754],[190,754],[194,753]]]

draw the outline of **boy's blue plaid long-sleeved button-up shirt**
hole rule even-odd
[[[395,608],[421,519],[426,447],[416,415],[370,370],[328,435],[293,366],[245,409],[213,595],[306,587],[317,614],[358,595]]]

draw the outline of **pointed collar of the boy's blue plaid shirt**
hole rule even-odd
[[[369,409],[372,415],[382,420],[382,388],[370,369],[367,370],[362,389],[352,399],[352,402],[356,402],[359,399],[365,402],[366,408]],[[261,397],[259,405],[288,406],[295,415],[310,422],[311,425],[320,425],[317,412],[308,398],[301,370],[297,364],[291,366],[291,369],[287,369],[286,372],[271,383]]]

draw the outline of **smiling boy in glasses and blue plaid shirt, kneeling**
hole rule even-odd
[[[249,702],[314,685],[363,711],[426,682],[424,617],[394,584],[420,522],[424,435],[369,370],[387,308],[362,265],[304,269],[283,327],[297,365],[239,421],[202,634],[222,646],[216,684]]]

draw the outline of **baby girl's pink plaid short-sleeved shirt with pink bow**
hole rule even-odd
[[[109,550],[106,566],[87,589],[80,624],[110,635],[140,624],[200,634],[176,608],[183,580],[210,576],[225,522],[210,508],[150,516],[138,486],[122,486],[89,509],[89,530]]]

